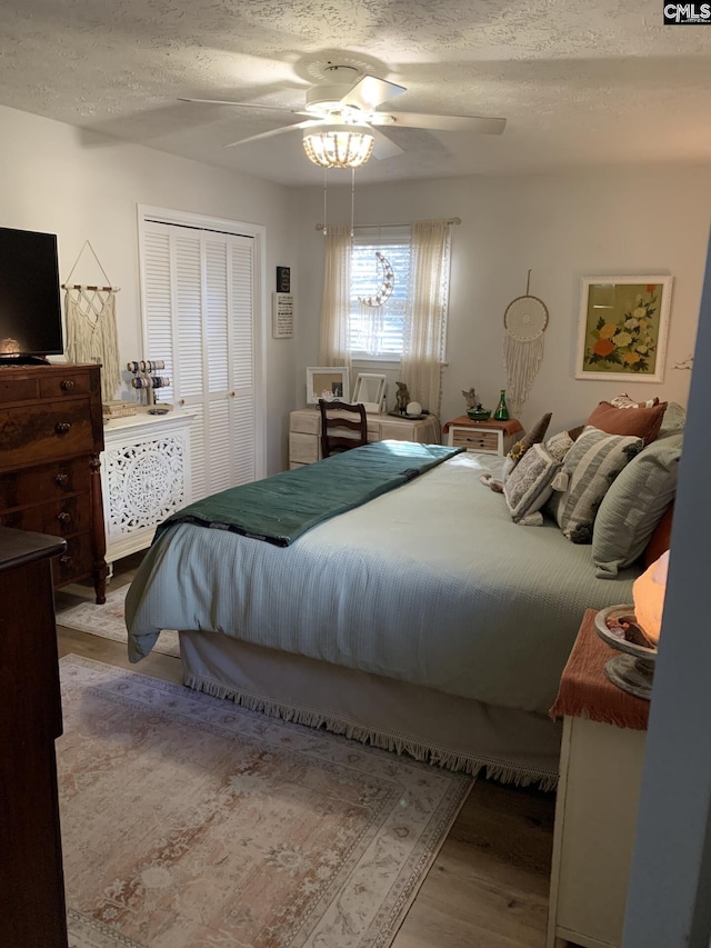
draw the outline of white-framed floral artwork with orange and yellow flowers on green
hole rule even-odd
[[[672,277],[583,277],[577,379],[664,379]]]

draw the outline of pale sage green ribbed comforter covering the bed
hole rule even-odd
[[[487,469],[457,455],[286,548],[172,527],[127,597],[131,661],[197,629],[547,714],[584,610],[631,602],[638,570],[598,579],[552,521],[513,523]]]

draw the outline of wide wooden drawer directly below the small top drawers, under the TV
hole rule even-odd
[[[90,453],[93,435],[83,398],[0,409],[0,468],[27,468],[72,455]]]

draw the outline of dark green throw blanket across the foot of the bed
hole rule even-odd
[[[445,461],[463,448],[377,441],[291,471],[213,493],[158,526],[198,523],[288,547],[297,537]]]

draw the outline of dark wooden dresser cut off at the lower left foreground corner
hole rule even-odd
[[[0,941],[67,948],[50,560],[64,540],[0,527]]]

